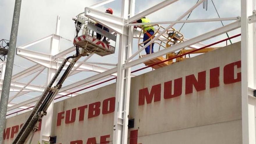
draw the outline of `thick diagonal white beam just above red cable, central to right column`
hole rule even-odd
[[[205,34],[199,35],[199,36],[197,36],[195,38],[191,38],[189,40],[181,42],[181,43],[179,43],[177,45],[174,45],[173,47],[170,47],[170,48],[167,48],[167,49],[163,49],[161,51],[157,51],[157,52],[155,52],[153,54],[150,54],[148,56],[145,56],[145,57],[142,57],[142,58],[139,58],[139,59],[127,62],[123,66],[123,68],[132,67],[132,66],[138,65],[140,63],[149,61],[151,59],[157,58],[159,56],[163,56],[163,55],[168,54],[170,52],[177,51],[177,50],[182,49],[184,47],[188,47],[190,45],[194,45],[196,43],[202,42],[202,41],[207,40],[209,38],[213,38],[213,37],[216,37],[216,36],[221,35],[223,33],[226,33],[226,32],[232,31],[234,29],[237,29],[240,26],[241,26],[241,22],[239,22],[239,21],[231,23],[231,24],[228,24],[228,25],[223,26],[221,28],[218,28],[218,29],[215,29],[213,31],[207,32]]]

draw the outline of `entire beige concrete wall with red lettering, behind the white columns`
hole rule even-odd
[[[132,78],[129,144],[242,143],[240,47]],[[112,143],[114,106],[115,84],[57,102],[51,136],[57,144]],[[7,119],[7,127],[25,117]]]

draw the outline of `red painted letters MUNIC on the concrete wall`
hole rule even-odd
[[[226,65],[223,69],[224,84],[231,84],[241,81],[241,72],[237,73],[235,76],[235,66],[241,68],[241,61],[230,63]],[[209,88],[216,88],[220,86],[220,67],[215,67],[210,69],[209,74]],[[199,72],[198,78],[194,74],[186,76],[185,81],[185,94],[193,93],[193,87],[196,91],[202,91],[206,89],[206,71]],[[182,94],[182,78],[174,80],[174,90],[172,90],[172,81],[167,81],[164,83],[164,99],[170,99],[173,97],[179,97]],[[148,88],[143,88],[139,90],[139,105],[144,105],[145,100],[147,104],[150,104],[153,100],[154,102],[161,100],[161,83],[152,86],[149,92]]]

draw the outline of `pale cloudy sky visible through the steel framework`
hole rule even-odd
[[[84,11],[86,6],[90,6],[93,3],[99,2],[100,0],[23,0],[21,13],[20,13],[20,21],[19,21],[19,30],[17,36],[17,47],[20,45],[24,45],[33,40],[37,40],[46,35],[50,35],[55,33],[56,29],[56,18],[57,15],[61,17],[61,27],[60,27],[60,35],[63,38],[71,40],[74,38],[74,21],[72,18],[77,14]],[[136,0],[135,6],[135,14],[146,10],[157,3],[163,0]],[[221,17],[237,17],[240,16],[240,0],[208,0],[208,9],[207,11],[203,8],[202,4],[198,6],[193,12],[189,19],[208,19],[208,18],[217,18],[218,15],[214,9],[212,4],[214,2],[218,13]],[[192,7],[197,0],[179,0],[173,3],[170,6],[166,6],[165,8],[148,15],[147,17],[151,20],[151,22],[161,22],[161,21],[173,21],[176,20],[180,15],[182,15],[186,10]],[[0,40],[10,38],[11,24],[13,18],[13,10],[14,10],[15,0],[1,0],[0,1]],[[114,13],[113,15],[120,16],[121,12],[121,0],[116,0],[111,3],[108,3],[104,6],[98,7],[98,10],[105,11],[106,8],[112,8]],[[187,17],[187,16],[186,16]],[[186,17],[184,19],[186,19]],[[230,22],[223,22],[225,25]],[[179,29],[182,24],[176,24],[174,27]],[[162,25],[167,27],[168,24]],[[211,31],[218,27],[221,27],[220,22],[202,22],[202,23],[189,23],[185,24],[181,30],[181,33],[184,34],[185,38],[193,38],[195,36],[206,33],[207,31]],[[229,35],[236,35],[240,33],[240,29],[229,32]],[[218,36],[214,39],[207,40],[204,43],[210,44],[212,42],[216,42],[218,40],[222,40],[227,38],[225,34]],[[72,46],[72,42],[61,39],[61,51]],[[232,40],[232,42],[239,41],[239,38]],[[133,52],[138,50],[136,40],[134,40]],[[112,44],[112,43],[111,43]],[[225,43],[221,43],[218,46],[224,46]],[[36,44],[28,49],[39,51],[39,52],[49,52],[50,40],[45,42]],[[118,54],[118,42],[116,44],[116,52],[113,56],[92,56],[89,61],[94,62],[104,62],[104,63],[117,63]],[[25,68],[31,67],[35,65],[35,63],[28,61],[19,56],[15,56],[14,61],[14,70],[13,74],[16,74]],[[132,69],[138,69],[143,67],[143,64],[133,67]],[[109,67],[111,68],[111,67]],[[143,72],[151,71],[150,68],[144,70]],[[42,74],[39,75],[35,81],[31,84],[37,85],[45,85],[46,84],[46,73],[47,70],[44,70]],[[94,75],[95,72],[81,72],[78,75],[72,76],[68,78],[68,81],[65,81],[64,86],[67,84],[71,84],[75,81],[81,80],[81,77],[86,78]],[[138,73],[140,74],[140,73]],[[33,77],[33,75],[31,76]],[[20,82],[26,83],[29,81],[31,77],[26,77],[21,79]],[[97,87],[95,87],[97,88]],[[92,88],[93,89],[93,88]],[[14,95],[14,93],[10,93],[10,95]],[[13,102],[21,102],[31,97],[40,95],[40,93],[31,93],[30,96],[23,96],[21,98],[16,98]]]

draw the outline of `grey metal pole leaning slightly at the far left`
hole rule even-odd
[[[10,83],[13,72],[13,61],[15,55],[16,41],[17,41],[17,33],[19,26],[19,14],[20,14],[21,0],[15,1],[14,12],[13,12],[13,24],[10,35],[10,43],[8,49],[8,59],[6,63],[6,69],[3,79],[3,88],[2,95],[0,101],[0,144],[3,143],[3,129],[5,128],[6,123],[6,111],[8,98],[10,93]]]

